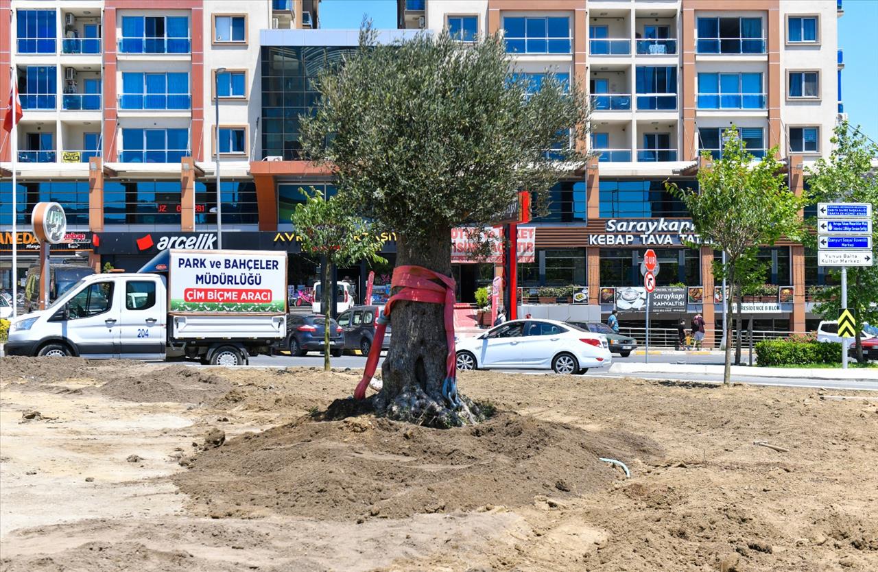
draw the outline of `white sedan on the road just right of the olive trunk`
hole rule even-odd
[[[612,363],[607,337],[550,319],[512,320],[457,340],[457,369],[552,369],[585,373]]]

